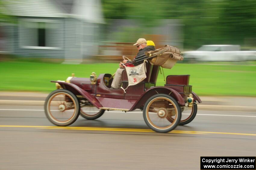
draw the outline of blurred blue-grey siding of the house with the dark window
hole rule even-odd
[[[47,30],[46,46],[58,49],[37,49],[40,47],[33,45],[36,33],[23,29],[23,21],[54,23],[54,28]],[[99,24],[75,18],[19,17],[17,24],[5,26],[4,32],[8,37],[4,48],[17,57],[72,59],[98,54]]]

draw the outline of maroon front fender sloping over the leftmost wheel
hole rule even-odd
[[[69,90],[69,91],[71,91],[73,93],[75,93],[75,92],[79,93],[84,98],[89,100],[89,102],[91,102],[91,104],[93,104],[98,109],[100,107],[102,107],[101,104],[99,103],[99,101],[96,99],[95,96],[93,96],[92,94],[88,93],[87,91],[83,90],[82,88],[78,87],[75,84],[67,83],[67,82],[59,82],[59,81],[51,81],[51,82],[59,83],[59,85],[61,85],[62,88],[67,89],[67,90]]]

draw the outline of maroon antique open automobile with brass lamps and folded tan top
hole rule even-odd
[[[170,68],[182,59],[177,48],[167,45],[136,57],[137,61],[149,61],[145,64],[146,78],[127,88],[129,82],[124,69],[122,88],[127,88],[126,91],[122,88],[111,89],[113,76],[108,73],[97,77],[93,72],[90,78],[78,78],[72,74],[66,81],[51,81],[56,83],[57,90],[46,98],[45,114],[53,124],[68,126],[79,115],[93,120],[106,110],[142,110],[149,128],[156,132],[169,132],[177,125],[191,122],[197,113],[197,103],[201,103],[192,92],[189,75],[168,75],[164,86],[156,86],[161,67]]]

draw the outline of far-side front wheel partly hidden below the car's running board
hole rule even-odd
[[[80,115],[85,119],[94,120],[98,119],[105,112],[104,109],[98,109],[97,107],[82,107],[80,110]]]

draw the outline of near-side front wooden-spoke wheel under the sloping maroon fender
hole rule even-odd
[[[48,95],[45,100],[45,115],[55,125],[71,125],[79,116],[80,104],[70,91],[58,89]]]

